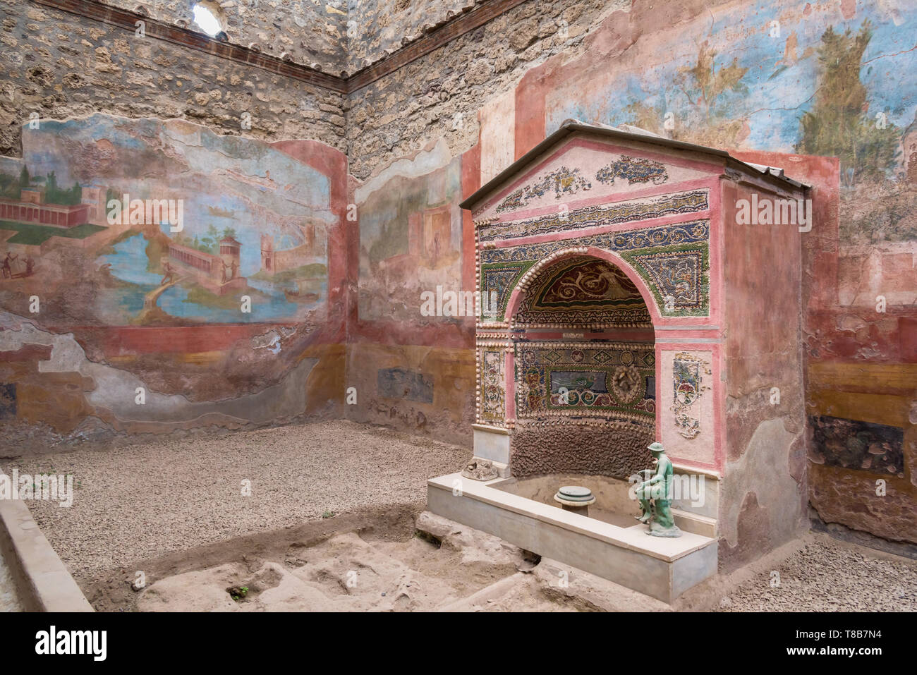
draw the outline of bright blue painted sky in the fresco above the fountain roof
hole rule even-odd
[[[667,62],[621,72],[604,83],[598,94],[582,100],[582,94],[562,90],[548,102],[547,131],[550,133],[568,117],[619,125],[632,121],[627,105],[643,101],[660,111],[671,110],[677,118],[687,107],[684,94],[674,86],[679,68],[696,63],[698,46],[707,40],[717,52],[716,69],[733,58],[748,69],[742,80],[747,94],[725,94],[728,118],[746,117],[751,135],[748,148],[792,151],[800,137],[800,118],[811,109],[817,85],[818,53],[824,30],[846,28],[856,33],[865,19],[872,24],[873,37],[863,56],[861,79],[868,92],[869,115],[888,111],[889,122],[908,127],[917,110],[917,3],[884,0],[856,6],[856,16],[845,20],[839,9],[815,9],[802,16],[799,2],[761,1],[746,6],[713,10],[705,19],[682,29],[670,47]],[[780,36],[772,38],[769,24],[780,20]],[[796,35],[798,61],[784,64],[786,41]],[[802,58],[805,52],[810,53]],[[651,61],[657,57],[648,57]],[[610,69],[613,71],[614,69]],[[571,87],[577,83],[570,83]]]

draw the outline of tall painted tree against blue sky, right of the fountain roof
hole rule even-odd
[[[796,146],[807,155],[840,158],[846,187],[883,179],[896,160],[899,129],[883,116],[870,115],[867,89],[860,81],[870,39],[868,20],[856,35],[850,28],[843,34],[834,27],[824,31],[815,105],[802,116],[802,138]]]

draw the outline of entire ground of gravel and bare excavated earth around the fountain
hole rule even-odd
[[[336,421],[4,468],[72,474],[72,508],[29,508],[97,610],[917,611],[917,560],[820,533],[659,603],[421,513],[427,478],[468,458]]]

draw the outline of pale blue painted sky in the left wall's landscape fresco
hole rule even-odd
[[[261,141],[220,136],[185,123],[127,121],[104,115],[64,122],[43,120],[39,130],[26,126],[23,134],[29,171],[33,175],[54,171],[64,186],[76,180],[81,158],[73,156],[73,148],[79,146],[65,146],[62,138],[81,145],[105,140],[126,150],[123,156],[127,159],[117,165],[116,177],[83,178],[81,183],[116,188],[131,199],[182,199],[182,234],[192,239],[207,236],[210,225],[221,233],[232,227],[242,244],[241,273],[245,276],[260,270],[262,234],[274,237],[276,249],[293,248],[304,243],[295,226],[307,218],[320,226],[336,220],[328,211],[330,179]],[[168,149],[168,155],[161,150],[153,155],[157,167],[134,160],[142,151],[149,157],[151,146],[140,137],[156,139]],[[168,227],[163,231],[175,237]],[[316,237],[322,241],[324,233],[316,232]],[[317,253],[324,262],[325,251]]]

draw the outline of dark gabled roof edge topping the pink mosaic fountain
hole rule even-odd
[[[561,123],[557,131],[547,136],[547,138],[538,143],[535,148],[530,149],[525,153],[525,155],[520,157],[518,160],[515,160],[512,164],[503,169],[502,172],[494,176],[490,181],[481,185],[481,188],[476,190],[474,194],[471,194],[467,199],[465,199],[460,204],[460,206],[465,209],[472,209],[474,206],[481,204],[485,198],[490,196],[501,185],[503,185],[503,183],[506,183],[511,178],[518,176],[520,172],[525,171],[525,168],[529,164],[534,163],[548,150],[558,146],[561,141],[565,140],[566,138],[583,133],[612,138],[613,140],[625,140],[644,143],[650,146],[659,146],[664,149],[689,150],[691,152],[707,155],[709,157],[719,158],[724,161],[724,164],[727,168],[746,172],[753,176],[763,176],[770,181],[783,183],[784,187],[789,187],[792,189],[810,187],[806,183],[800,183],[799,181],[793,180],[779,167],[765,166],[764,164],[752,164],[747,161],[738,160],[723,149],[710,148],[709,146],[696,145],[694,143],[687,143],[682,140],[666,138],[665,136],[660,136],[653,133],[652,131],[646,131],[646,129],[632,127],[630,125],[608,127],[602,124],[587,124],[585,122],[581,122],[578,119],[567,119]]]

